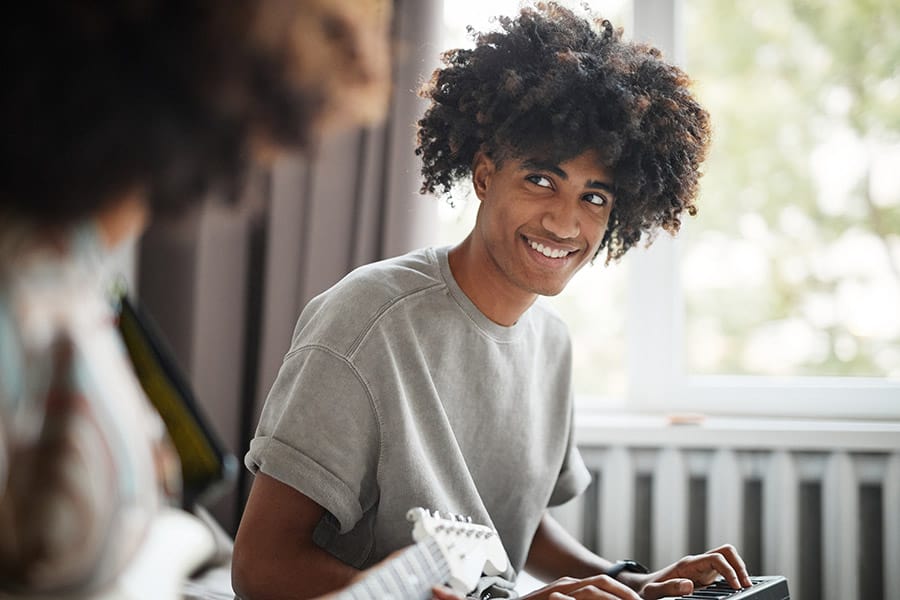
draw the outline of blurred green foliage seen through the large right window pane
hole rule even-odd
[[[900,378],[900,2],[688,0],[694,373]]]

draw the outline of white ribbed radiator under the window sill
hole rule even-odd
[[[900,599],[900,425],[579,420],[593,483],[554,514],[601,556],[732,543],[794,600]]]

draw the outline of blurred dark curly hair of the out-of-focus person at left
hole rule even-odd
[[[389,0],[19,2],[0,35],[0,213],[233,197],[254,159],[381,116]]]

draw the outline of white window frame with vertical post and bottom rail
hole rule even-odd
[[[632,0],[633,37],[684,63],[683,0]],[[681,242],[660,235],[628,253],[627,397],[579,406],[629,412],[841,419],[900,418],[900,382],[869,377],[690,375],[684,357]]]

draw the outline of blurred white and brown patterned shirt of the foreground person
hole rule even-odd
[[[104,295],[86,223],[0,222],[0,590],[97,589],[179,494],[177,457]]]

